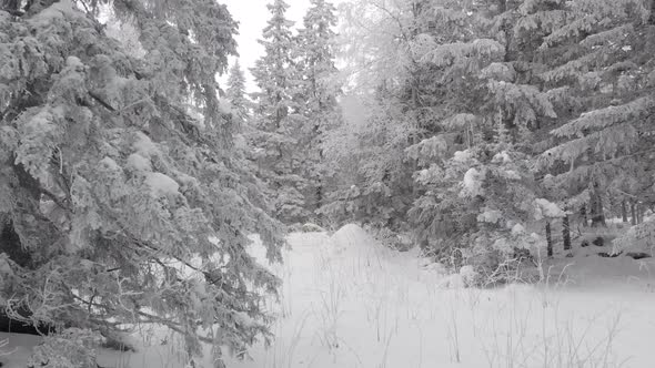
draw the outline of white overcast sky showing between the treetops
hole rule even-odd
[[[336,6],[343,0],[331,0]],[[250,75],[249,68],[254,65],[262,53],[263,48],[258,43],[262,37],[262,30],[266,27],[266,21],[270,18],[266,4],[272,0],[219,0],[220,3],[228,6],[228,10],[232,17],[239,21],[239,34],[236,42],[239,43],[239,61],[241,68],[245,72],[248,79],[246,90],[252,92],[256,89]],[[310,7],[310,0],[286,0],[290,8],[286,12],[286,18],[295,22],[295,27],[302,25],[302,18]],[[232,65],[234,59],[230,60]],[[225,88],[226,75],[221,78],[221,88]]]

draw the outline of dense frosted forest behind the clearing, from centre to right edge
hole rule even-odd
[[[655,3],[353,1],[339,37],[312,3],[298,34],[270,6],[253,70],[253,162],[278,218],[363,223],[492,268],[606,217],[639,225],[619,248],[648,242]]]

